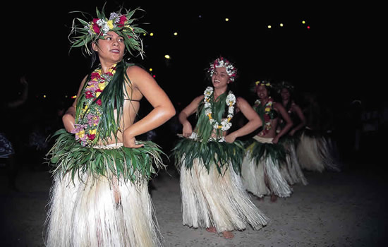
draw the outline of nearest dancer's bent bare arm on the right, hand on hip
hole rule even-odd
[[[123,132],[124,146],[140,147],[141,145],[135,145],[135,136],[161,126],[174,116],[175,109],[166,93],[143,68],[138,66],[128,67],[127,74],[134,88],[139,90],[154,107],[147,116],[128,126]]]

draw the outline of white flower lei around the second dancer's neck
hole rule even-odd
[[[203,101],[205,102],[204,108],[205,108],[205,114],[209,118],[210,124],[212,124],[214,129],[221,128],[222,131],[227,131],[229,128],[231,128],[231,119],[234,115],[234,104],[236,104],[236,97],[234,96],[233,92],[229,91],[228,95],[226,96],[226,104],[229,106],[228,108],[228,116],[226,119],[222,119],[221,123],[217,122],[212,117],[212,103],[210,103],[210,96],[213,93],[212,87],[207,87],[204,95],[205,98]]]

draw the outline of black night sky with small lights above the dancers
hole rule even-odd
[[[69,52],[71,23],[80,17],[69,12],[85,11],[95,16],[96,6],[101,9],[105,2],[11,4],[13,11],[5,13],[6,19],[18,28],[8,30],[10,35],[5,39],[13,73],[6,83],[10,90],[3,91],[11,93],[4,97],[12,98],[20,91],[18,78],[24,75],[30,85],[29,97],[42,102],[41,107],[71,104],[68,99],[90,71],[90,59],[80,49]],[[125,8],[145,10],[137,15],[143,16],[139,23],[147,23],[140,26],[154,34],[143,39],[145,59],[131,61],[147,70],[152,68],[155,79],[176,106],[184,106],[202,94],[207,83],[205,69],[220,55],[236,64],[236,93],[250,102],[254,96],[249,87],[256,80],[288,80],[296,86],[296,92],[316,93],[327,107],[344,106],[356,99],[373,103],[381,100],[382,90],[376,90],[378,84],[373,81],[379,67],[370,65],[380,49],[368,42],[374,30],[370,28],[372,20],[365,17],[366,6],[327,1],[268,2],[125,1]],[[107,1],[107,16],[122,4]],[[171,59],[166,60],[165,54]]]

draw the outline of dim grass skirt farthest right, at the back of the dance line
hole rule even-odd
[[[301,167],[308,171],[340,171],[331,147],[331,143],[324,136],[303,132],[296,148]]]

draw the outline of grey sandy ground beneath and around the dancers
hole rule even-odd
[[[154,179],[152,200],[164,246],[388,246],[388,183],[382,171],[375,164],[350,164],[340,173],[305,172],[309,184],[293,186],[291,198],[271,203],[252,197],[271,221],[259,231],[234,231],[234,239],[182,225],[178,175],[172,168]],[[22,167],[19,192],[6,188],[4,167],[0,175],[0,246],[44,246],[50,174]]]

